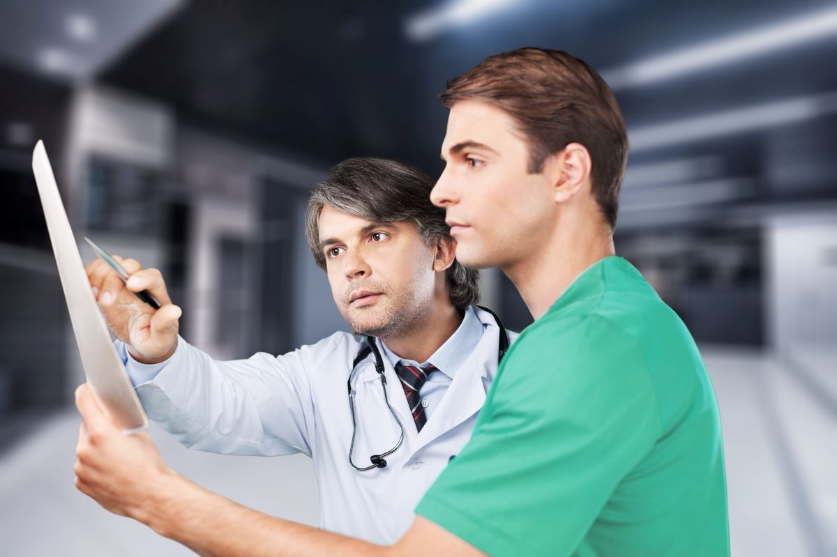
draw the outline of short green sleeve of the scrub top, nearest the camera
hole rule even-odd
[[[490,555],[572,554],[659,435],[632,337],[594,315],[539,321],[416,512]]]

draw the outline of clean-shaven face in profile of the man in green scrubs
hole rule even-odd
[[[430,201],[447,210],[460,263],[506,268],[542,247],[554,188],[547,174],[527,171],[529,149],[510,115],[479,101],[456,103],[441,156],[447,165]]]

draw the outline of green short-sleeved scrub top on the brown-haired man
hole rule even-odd
[[[523,331],[416,513],[490,555],[729,554],[715,392],[633,265],[598,261]]]

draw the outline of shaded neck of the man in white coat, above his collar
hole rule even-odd
[[[398,338],[381,340],[387,343],[389,350],[405,360],[421,363],[428,360],[459,329],[462,318],[463,314],[450,304],[447,294],[444,294],[444,300],[434,300],[430,304],[428,319],[422,319],[422,323],[417,324],[415,329]]]

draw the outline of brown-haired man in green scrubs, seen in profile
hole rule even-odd
[[[177,494],[131,503],[136,492],[112,487],[118,472],[89,493],[214,555],[728,555],[706,369],[680,319],[614,256],[628,141],[613,93],[581,60],[521,49],[485,59],[442,99],[447,166],[431,198],[447,210],[460,259],[502,268],[536,321],[407,534],[378,547],[270,519],[158,458],[150,477]],[[112,438],[80,394],[85,424]],[[90,452],[103,468],[128,465]]]

